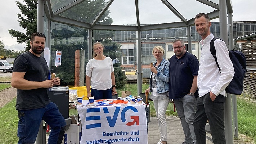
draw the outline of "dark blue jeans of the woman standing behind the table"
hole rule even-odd
[[[91,96],[94,96],[94,99],[112,99],[112,89],[107,89],[107,90],[91,89]]]

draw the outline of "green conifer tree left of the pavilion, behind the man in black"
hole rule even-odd
[[[26,44],[26,49],[30,49],[30,36],[37,31],[37,0],[23,0],[24,3],[16,1],[16,4],[22,14],[17,14],[19,26],[26,33],[9,29],[8,32],[12,37],[17,39],[19,44]]]

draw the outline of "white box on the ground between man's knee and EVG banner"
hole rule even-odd
[[[78,137],[79,130],[79,137]],[[79,139],[79,142],[78,142]],[[65,131],[64,134],[64,144],[79,144],[81,140],[81,123],[80,126],[77,124],[69,125],[68,130]]]

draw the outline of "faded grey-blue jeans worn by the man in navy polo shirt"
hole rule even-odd
[[[196,135],[194,132],[194,117],[196,112],[196,98],[191,95],[185,95],[180,99],[173,100],[177,114],[185,134],[186,144],[196,144]]]

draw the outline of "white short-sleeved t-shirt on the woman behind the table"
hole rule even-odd
[[[90,59],[86,65],[86,75],[91,77],[91,88],[107,90],[112,87],[111,73],[114,71],[112,59]]]

